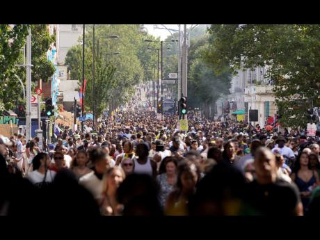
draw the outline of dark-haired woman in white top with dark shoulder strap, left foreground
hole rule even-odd
[[[45,152],[37,154],[32,161],[33,171],[29,173],[28,179],[36,186],[42,186],[47,182],[53,182],[56,173],[49,170],[50,158]]]

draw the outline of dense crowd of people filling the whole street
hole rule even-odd
[[[157,120],[127,109],[94,132],[64,129],[47,151],[38,138],[2,137],[0,213],[320,213],[319,132],[308,138],[192,113],[188,120],[189,131],[180,131],[176,115]]]

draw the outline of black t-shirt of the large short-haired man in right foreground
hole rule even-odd
[[[294,215],[296,205],[301,202],[295,184],[277,179],[274,184],[259,184],[256,180],[246,187],[246,202],[259,215]]]

